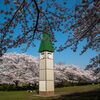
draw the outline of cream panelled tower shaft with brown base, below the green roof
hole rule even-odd
[[[54,94],[54,68],[52,52],[44,51],[40,53],[39,94]]]

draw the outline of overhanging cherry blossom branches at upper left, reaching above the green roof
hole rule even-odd
[[[59,2],[60,1],[60,2]],[[26,43],[28,48],[35,39],[41,39],[44,28],[61,30],[61,22],[66,21],[68,0],[4,0],[0,16],[0,55],[9,48]],[[65,13],[66,12],[66,13]],[[15,34],[16,30],[20,30]],[[15,36],[16,35],[16,36]]]

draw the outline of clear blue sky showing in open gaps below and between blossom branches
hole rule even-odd
[[[69,7],[72,7],[74,4],[76,4],[77,2],[79,2],[80,0],[69,0]],[[75,2],[77,1],[77,2]],[[3,6],[2,6],[3,7]],[[1,8],[2,8],[1,7]],[[17,34],[19,33],[18,30],[16,30]],[[65,42],[66,39],[66,35],[62,34],[61,32],[55,32],[56,35],[56,39],[58,40],[58,42],[56,43],[57,46],[59,46],[60,44],[63,44]],[[40,41],[35,41],[36,47],[30,47],[27,52],[25,52],[28,55],[32,55],[32,56],[36,56],[39,57],[39,45],[40,45]],[[62,52],[54,52],[54,62],[55,63],[66,63],[66,64],[75,64],[81,68],[85,68],[86,65],[89,63],[90,58],[92,58],[93,56],[95,56],[97,53],[92,51],[92,50],[88,50],[87,52],[85,52],[83,55],[80,56],[80,52],[82,50],[82,46],[85,44],[85,41],[83,41],[79,47],[77,52],[73,52],[70,48],[65,49]],[[8,52],[16,52],[16,53],[22,53],[22,48],[24,48],[24,46],[21,46],[20,48],[15,48],[15,49],[10,49],[8,50]]]

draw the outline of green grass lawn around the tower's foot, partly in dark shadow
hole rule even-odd
[[[35,91],[1,91],[0,100],[100,100],[100,84],[56,88],[53,97],[40,97]]]

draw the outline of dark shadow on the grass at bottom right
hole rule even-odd
[[[54,99],[55,100],[55,99]],[[100,100],[100,89],[70,95],[61,95],[56,100]]]

